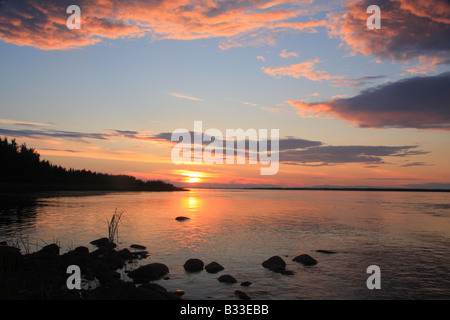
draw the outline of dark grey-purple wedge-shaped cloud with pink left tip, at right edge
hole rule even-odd
[[[287,101],[304,117],[338,117],[362,128],[450,130],[450,72],[390,82],[350,98]]]

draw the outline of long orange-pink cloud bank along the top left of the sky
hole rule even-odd
[[[316,32],[326,21],[298,21],[320,12],[310,1],[290,0],[79,0],[81,29],[69,30],[68,0],[5,0],[0,38],[19,46],[64,50],[104,39],[217,38],[220,48],[274,44],[281,33]],[[292,20],[296,21],[293,22]]]

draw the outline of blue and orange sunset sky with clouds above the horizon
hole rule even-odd
[[[0,0],[0,136],[179,186],[450,188],[449,39],[446,0]],[[278,129],[277,172],[174,163],[195,121]]]

